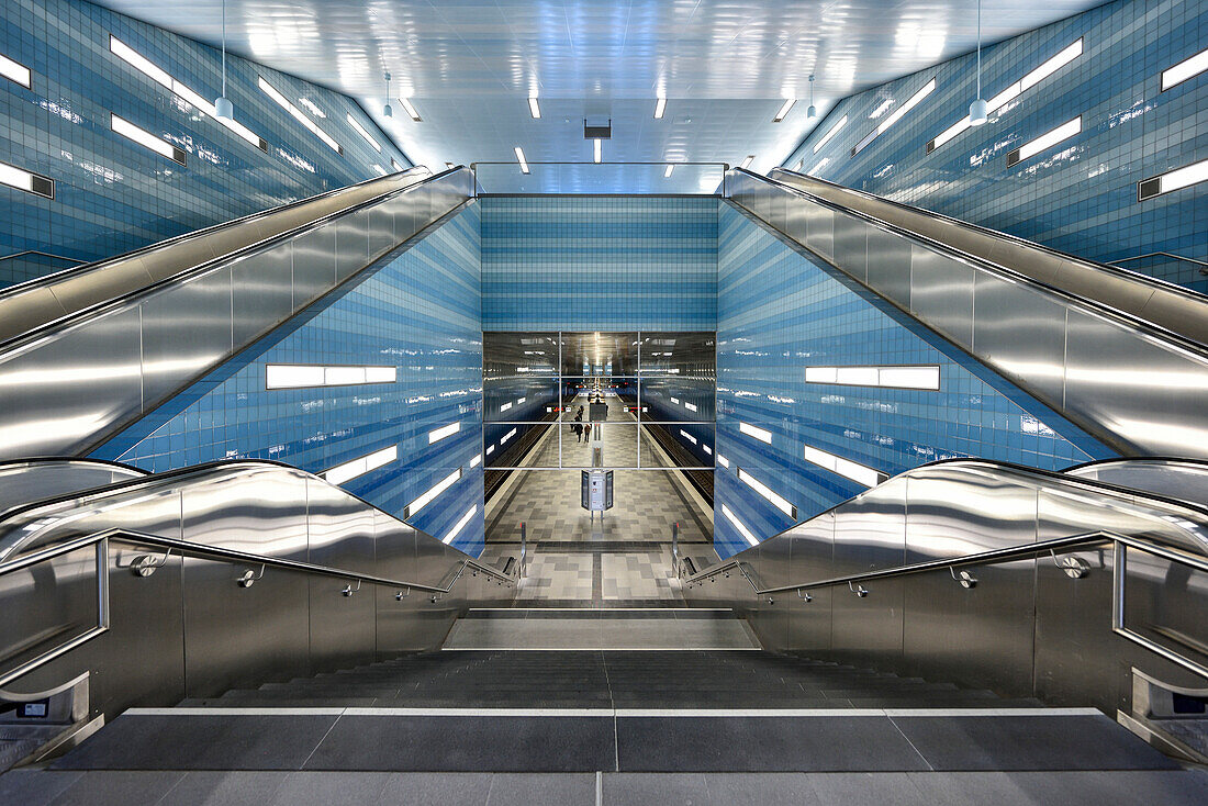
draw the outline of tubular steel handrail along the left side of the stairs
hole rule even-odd
[[[373,574],[360,574],[352,570],[345,570],[341,568],[332,568],[330,566],[316,566],[314,563],[301,562],[297,559],[281,559],[279,557],[268,557],[266,555],[256,555],[246,551],[236,551],[233,549],[221,549],[219,546],[208,546],[201,543],[192,543],[190,540],[180,540],[176,538],[164,538],[157,534],[147,534],[143,532],[134,532],[132,529],[105,529],[103,532],[95,532],[93,534],[87,534],[80,538],[72,538],[64,543],[57,544],[54,546],[48,546],[46,549],[39,549],[31,551],[27,555],[22,555],[16,559],[8,559],[0,562],[0,576],[6,574],[12,574],[33,566],[54,559],[56,557],[62,557],[63,555],[71,553],[74,551],[80,551],[81,549],[95,549],[95,562],[97,562],[97,625],[89,630],[80,633],[75,638],[66,640],[58,646],[42,653],[41,655],[25,661],[24,663],[0,673],[0,688],[12,683],[13,680],[29,674],[34,669],[37,669],[46,663],[50,663],[57,657],[62,657],[68,653],[72,651],[77,646],[81,646],[94,638],[98,638],[110,628],[110,607],[109,607],[109,545],[110,543],[124,543],[134,546],[156,546],[159,549],[165,549],[163,559],[158,563],[151,562],[150,558],[135,558],[132,561],[130,570],[139,576],[150,576],[156,572],[156,569],[163,567],[167,562],[168,556],[175,551],[181,556],[196,556],[207,557],[210,559],[222,559],[231,563],[248,564],[248,566],[260,566],[260,574],[252,575],[248,572],[246,575],[234,580],[240,587],[251,587],[251,585],[265,575],[267,568],[280,568],[284,570],[298,572],[304,574],[313,574],[318,576],[331,576],[336,579],[348,580],[349,585],[344,587],[342,593],[344,596],[353,596],[360,590],[362,582],[368,582],[370,585],[379,585],[383,587],[391,587],[397,590],[396,598],[406,598],[411,591],[424,591],[426,593],[432,593],[432,602],[436,602],[439,597],[448,593],[457,585],[457,581],[461,578],[466,569],[472,573],[483,573],[499,580],[500,584],[515,585],[516,580],[506,574],[503,574],[489,566],[484,566],[472,558],[466,557],[463,559],[458,567],[457,573],[449,580],[448,585],[445,587],[435,585],[424,585],[422,582],[408,582],[403,580],[389,579],[385,576],[376,576]],[[352,584],[355,582],[354,588]]]

